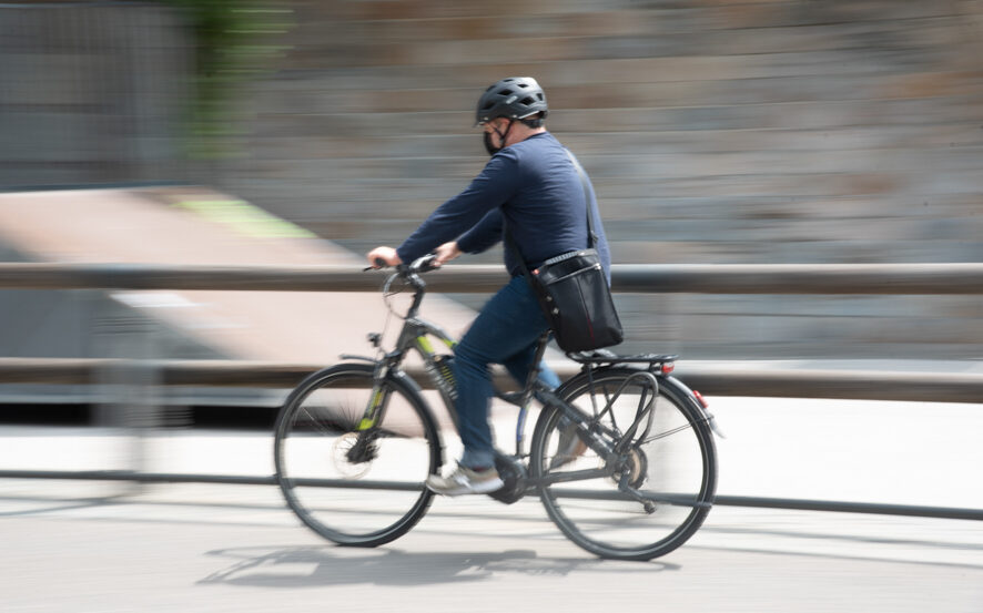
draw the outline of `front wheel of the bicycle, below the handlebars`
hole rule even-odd
[[[377,546],[409,531],[433,502],[424,483],[442,464],[436,421],[402,372],[385,378],[385,412],[365,438],[374,370],[371,364],[320,370],[291,392],[276,419],[275,478],[287,505],[341,545]]]

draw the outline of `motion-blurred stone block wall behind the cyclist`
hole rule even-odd
[[[528,74],[616,262],[983,259],[981,0],[292,6],[225,181],[355,251],[466,185],[478,94]],[[690,358],[983,357],[980,296],[619,299],[630,348]]]

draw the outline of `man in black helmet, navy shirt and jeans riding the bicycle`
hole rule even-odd
[[[585,187],[566,150],[547,132],[546,94],[529,76],[503,79],[478,100],[476,125],[484,131],[492,160],[470,185],[440,205],[397,248],[376,247],[368,262],[395,266],[435,252],[437,263],[462,253],[482,253],[507,232],[528,269],[588,244],[587,206],[591,206],[596,245],[605,272],[610,254],[597,207],[585,202]],[[587,181],[589,197],[594,188]],[[487,493],[503,481],[495,469],[488,408],[493,397],[489,365],[501,364],[519,381],[533,367],[536,345],[548,329],[536,295],[511,249],[505,251],[511,279],[482,308],[455,347],[457,426],[464,443],[458,469],[449,477],[432,476],[436,493]],[[557,387],[556,374],[543,365],[540,379]],[[579,440],[569,437],[568,446]]]

